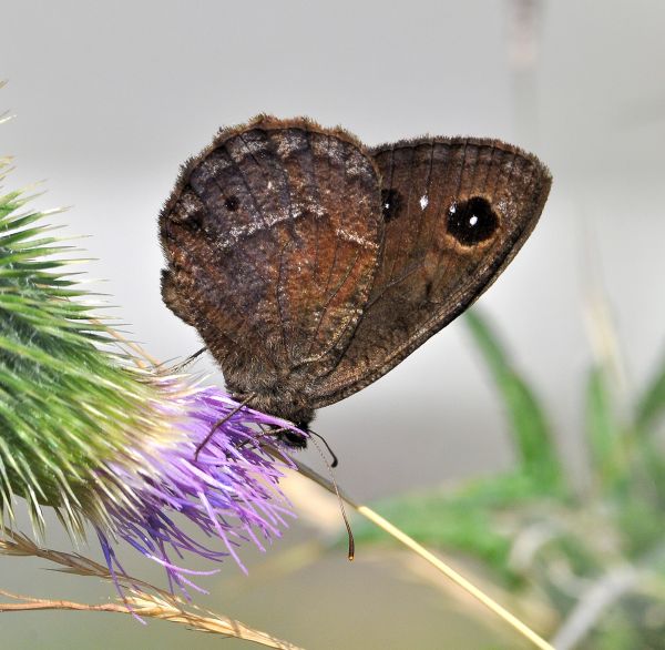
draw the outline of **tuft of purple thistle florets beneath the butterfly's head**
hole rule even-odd
[[[277,460],[262,449],[262,425],[288,426],[244,407],[217,427],[205,448],[198,445],[213,426],[238,404],[215,388],[194,389],[155,405],[175,424],[167,435],[134,438],[117,458],[99,471],[99,494],[106,506],[108,521],[98,525],[100,544],[119,586],[116,570],[124,573],[111,548],[109,536],[126,541],[145,557],[164,567],[170,587],[187,596],[187,587],[201,590],[185,575],[216,571],[187,570],[170,559],[193,553],[221,561],[232,556],[247,572],[237,549],[243,541],[272,542],[287,527],[284,515],[293,516],[279,489],[283,470],[293,467],[288,457]],[[275,439],[269,438],[272,445]],[[115,495],[113,489],[115,488]],[[184,532],[171,514],[184,517],[225,550],[212,548]]]

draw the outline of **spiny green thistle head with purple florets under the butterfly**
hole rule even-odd
[[[8,160],[0,160],[0,179]],[[55,509],[74,537],[94,526],[111,571],[124,540],[186,590],[190,552],[209,560],[253,541],[264,548],[286,525],[282,469],[263,445],[283,420],[242,408],[215,388],[136,366],[116,333],[92,317],[90,297],[65,267],[71,248],[50,236],[29,197],[0,196],[0,510],[17,496],[43,531]],[[58,254],[58,257],[55,256]],[[216,423],[231,416],[201,453]],[[206,544],[187,535],[195,525]],[[217,538],[213,544],[211,538]]]

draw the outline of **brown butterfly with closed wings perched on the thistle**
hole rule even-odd
[[[183,166],[160,216],[162,295],[238,400],[307,428],[471,305],[550,185],[534,155],[499,140],[366,148],[259,115]]]

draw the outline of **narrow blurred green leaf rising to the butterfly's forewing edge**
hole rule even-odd
[[[520,470],[538,478],[535,485],[543,491],[561,489],[561,460],[535,393],[513,368],[499,337],[478,308],[467,313],[466,322],[503,399]]]

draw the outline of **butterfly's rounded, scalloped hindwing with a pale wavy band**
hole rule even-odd
[[[340,130],[264,118],[185,166],[160,223],[166,304],[234,394],[305,417],[304,385],[337,365],[371,288],[383,227],[371,158]]]

